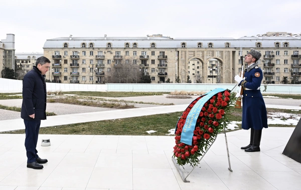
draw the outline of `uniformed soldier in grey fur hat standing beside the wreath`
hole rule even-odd
[[[248,64],[244,78],[239,75],[234,78],[243,87],[241,127],[251,128],[250,144],[241,147],[247,152],[260,151],[262,128],[267,128],[266,107],[260,92],[263,74],[256,63],[260,56],[259,51],[250,49],[244,59],[244,62]]]

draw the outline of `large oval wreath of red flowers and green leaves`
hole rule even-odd
[[[185,165],[187,163],[196,165],[199,162],[199,157],[207,151],[218,132],[223,130],[224,126],[226,127],[227,122],[229,122],[226,113],[230,105],[235,104],[235,97],[234,93],[230,93],[230,90],[226,89],[216,93],[204,103],[193,131],[192,145],[180,142],[183,126],[190,110],[205,96],[206,94],[192,101],[178,120],[175,136],[176,145],[174,146],[173,156],[177,158],[179,165]]]

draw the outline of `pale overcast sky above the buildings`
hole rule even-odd
[[[43,52],[56,37],[234,37],[300,33],[301,0],[0,0],[0,39]]]

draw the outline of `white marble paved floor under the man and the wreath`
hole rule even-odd
[[[26,167],[24,134],[0,134],[1,190],[96,189],[300,189],[301,163],[282,154],[291,127],[263,129],[261,152],[245,152],[249,131],[224,134],[183,182],[172,161],[173,136],[40,135],[47,158],[41,170]],[[41,146],[49,137],[51,146]],[[188,170],[189,166],[185,166]]]

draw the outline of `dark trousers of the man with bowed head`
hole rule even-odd
[[[41,125],[41,120],[26,120],[25,124],[25,148],[27,155],[27,163],[36,161],[38,158],[38,150],[36,149],[38,143],[39,130]]]

